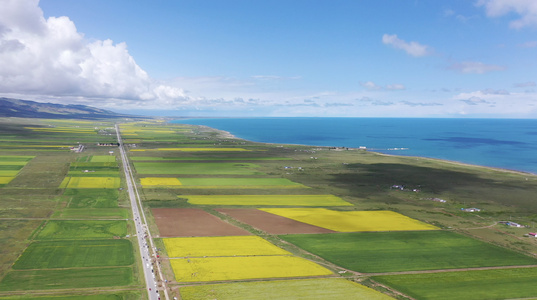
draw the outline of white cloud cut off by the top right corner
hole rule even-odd
[[[509,23],[511,28],[537,26],[537,1],[535,0],[479,0],[476,5],[484,6],[489,17],[518,14],[520,18]]]

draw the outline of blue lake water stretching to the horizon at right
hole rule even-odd
[[[221,118],[205,125],[255,142],[338,146],[459,161],[537,174],[537,120]]]

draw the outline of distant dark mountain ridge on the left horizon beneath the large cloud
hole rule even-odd
[[[136,118],[86,105],[40,103],[0,97],[0,117],[43,119]]]

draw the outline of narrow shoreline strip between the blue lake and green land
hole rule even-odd
[[[237,137],[237,136],[233,135],[229,131],[209,127],[207,125],[193,125],[193,124],[185,124],[185,125],[197,126],[197,127],[201,127],[201,128],[205,128],[205,129],[215,131],[215,132],[217,132],[219,134],[218,136],[220,138],[238,139],[238,140],[243,140],[243,141],[249,141],[249,142],[252,142],[252,143],[261,143],[261,144],[267,144],[267,145],[294,145],[294,146],[321,147],[321,148],[338,147],[338,146],[318,146],[318,145],[306,145],[306,144],[255,142],[255,141],[250,141],[250,140],[247,140],[247,139],[244,139],[244,138],[241,138],[241,137]],[[341,148],[341,147],[338,147],[338,148]],[[368,149],[359,149],[359,148],[354,148],[354,147],[346,147],[346,148],[352,149],[352,150],[365,150],[367,152],[375,153],[377,155],[382,155],[382,156],[427,159],[427,160],[432,160],[432,161],[437,161],[437,162],[450,163],[450,164],[459,165],[459,166],[477,167],[477,168],[483,168],[483,169],[488,169],[488,170],[493,170],[493,171],[500,171],[500,172],[506,172],[506,173],[513,173],[513,174],[528,175],[528,176],[532,176],[532,177],[537,177],[537,173],[532,173],[532,172],[528,172],[528,171],[520,171],[520,170],[513,170],[513,169],[507,169],[507,168],[500,168],[500,167],[490,167],[490,166],[476,165],[476,164],[465,163],[465,162],[460,162],[460,161],[456,161],[456,160],[441,159],[441,158],[426,157],[426,156],[388,154],[388,153],[382,153],[382,152],[368,150]]]

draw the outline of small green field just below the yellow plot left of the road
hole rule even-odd
[[[116,189],[66,189],[62,195],[69,208],[117,207],[118,198]]]

